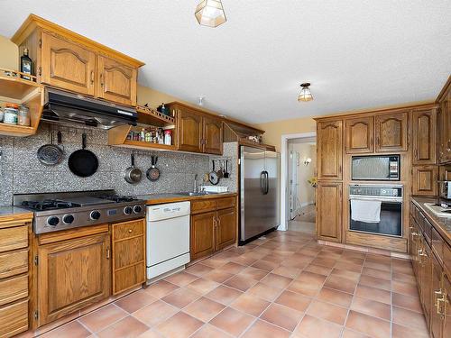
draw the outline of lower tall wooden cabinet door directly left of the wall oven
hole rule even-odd
[[[317,235],[319,240],[341,242],[343,184],[318,182]]]

